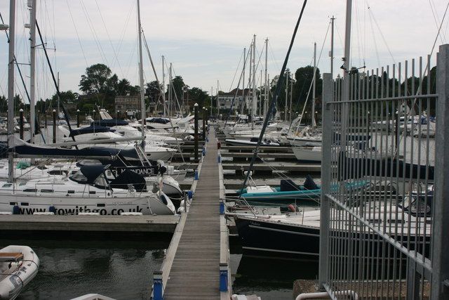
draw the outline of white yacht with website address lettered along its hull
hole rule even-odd
[[[170,198],[161,184],[147,191],[145,179],[132,171],[109,180],[109,166],[83,166],[72,176],[53,176],[22,183],[0,182],[0,211],[15,214],[97,213],[120,215],[174,214]]]

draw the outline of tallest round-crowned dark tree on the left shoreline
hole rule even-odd
[[[116,74],[111,76],[111,69],[101,63],[86,68],[86,74],[81,75],[79,90],[85,94],[114,93],[118,85]]]

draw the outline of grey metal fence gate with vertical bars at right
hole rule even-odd
[[[323,74],[319,285],[333,299],[449,299],[448,97],[449,45],[434,67]]]

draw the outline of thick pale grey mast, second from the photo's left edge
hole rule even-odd
[[[34,132],[36,132],[35,117],[35,70],[36,70],[36,0],[31,1],[31,11],[29,14],[29,126],[30,126],[30,142],[34,143]]]

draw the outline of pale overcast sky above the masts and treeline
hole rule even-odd
[[[60,72],[63,91],[78,91],[81,74],[95,63],[108,65],[119,78],[138,84],[136,1],[126,0],[37,0],[41,26],[53,67]],[[17,0],[16,56],[29,63],[29,22],[26,0]],[[448,1],[443,0],[354,0],[352,13],[351,65],[368,68],[391,65],[430,53]],[[141,0],[142,27],[161,79],[161,56],[173,63],[174,75],[189,86],[213,93],[232,85],[243,48],[256,34],[257,56],[269,39],[269,74],[279,74],[302,1],[282,0]],[[288,67],[309,65],[317,43],[321,72],[329,72],[330,17],[335,15],[335,69],[342,65],[346,1],[309,0],[290,54]],[[368,8],[369,7],[369,8]],[[434,11],[432,11],[432,8]],[[9,22],[9,0],[0,0],[0,13]],[[445,18],[438,45],[449,39]],[[436,52],[435,51],[435,52]],[[8,44],[0,32],[0,94],[6,93]],[[264,54],[262,55],[264,57]],[[37,96],[55,92],[50,72],[37,50]],[[263,59],[262,59],[263,60]],[[145,81],[155,79],[144,48]],[[28,76],[29,67],[21,65]],[[260,74],[260,66],[257,74]],[[16,75],[17,76],[17,75]],[[17,78],[18,79],[18,78]],[[26,79],[27,80],[27,79]],[[21,84],[16,86],[23,94]],[[25,95],[25,94],[23,94]]]

